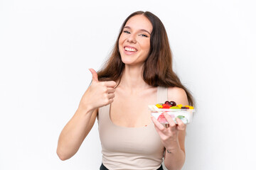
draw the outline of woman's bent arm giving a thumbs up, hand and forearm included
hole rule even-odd
[[[98,81],[95,70],[92,72],[92,84],[82,96],[78,110],[65,125],[58,140],[57,154],[61,160],[69,159],[78,152],[80,145],[88,135],[97,117],[98,108],[113,102],[114,81]]]

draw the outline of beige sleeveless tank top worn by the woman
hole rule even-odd
[[[157,87],[157,103],[167,101],[167,89]],[[149,113],[150,114],[150,113]],[[111,170],[156,170],[164,157],[164,145],[154,128],[126,128],[114,125],[110,105],[99,109],[98,128],[102,163]]]

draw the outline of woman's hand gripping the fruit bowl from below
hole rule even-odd
[[[178,142],[178,132],[185,130],[186,125],[179,118],[176,118],[176,124],[168,113],[164,113],[164,117],[169,123],[166,124],[166,127],[159,123],[153,116],[151,116],[151,120],[154,123],[156,132],[159,133],[164,147],[169,148],[174,142]]]

